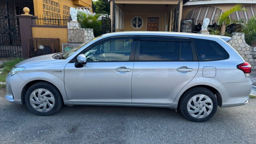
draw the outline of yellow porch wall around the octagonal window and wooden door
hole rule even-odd
[[[143,26],[140,29],[134,29],[131,26],[131,20],[134,16],[140,16],[143,19]],[[124,13],[124,31],[146,31],[147,28],[147,16],[159,16],[159,31],[164,31],[165,14],[134,14]]]

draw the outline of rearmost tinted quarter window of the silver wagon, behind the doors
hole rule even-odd
[[[225,60],[228,52],[218,42],[204,39],[194,39],[199,61]]]

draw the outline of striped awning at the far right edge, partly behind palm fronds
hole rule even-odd
[[[239,12],[234,12],[231,14],[231,19],[232,20],[250,20],[252,16],[256,14],[256,7],[255,6],[243,6],[247,12],[245,11],[239,11]]]

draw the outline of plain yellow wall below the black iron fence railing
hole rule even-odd
[[[32,27],[33,38],[60,38],[60,52],[62,51],[62,43],[68,43],[67,28],[42,28]]]

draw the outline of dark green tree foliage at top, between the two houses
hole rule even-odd
[[[108,14],[110,15],[110,3],[108,0],[97,0],[93,1],[94,9],[96,14]]]

